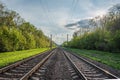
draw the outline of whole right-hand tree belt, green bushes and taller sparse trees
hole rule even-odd
[[[120,4],[111,7],[103,17],[90,20],[92,31],[76,35],[63,45],[71,48],[120,52]]]

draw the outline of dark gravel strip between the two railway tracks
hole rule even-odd
[[[81,74],[76,71],[66,58],[63,50],[56,52],[39,67],[28,80],[82,80]]]

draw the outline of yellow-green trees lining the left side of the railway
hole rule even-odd
[[[49,47],[42,30],[0,2],[0,52]]]

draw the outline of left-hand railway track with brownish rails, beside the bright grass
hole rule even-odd
[[[47,60],[54,50],[43,52],[28,59],[16,62],[15,64],[0,69],[0,80],[19,80],[30,71],[35,70],[36,66]]]

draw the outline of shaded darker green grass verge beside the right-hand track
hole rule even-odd
[[[109,53],[96,50],[80,50],[72,48],[69,48],[68,50],[120,70],[120,53]]]

